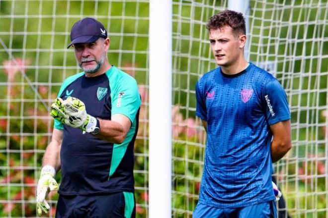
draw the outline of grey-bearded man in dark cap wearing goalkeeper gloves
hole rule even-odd
[[[55,118],[37,187],[37,211],[58,189],[57,218],[135,217],[133,146],[141,99],[134,78],[107,60],[104,26],[84,18],[71,30],[83,72],[67,78],[51,106]]]

